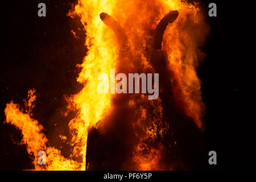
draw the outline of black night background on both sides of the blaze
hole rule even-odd
[[[46,3],[46,17],[38,17],[40,2]],[[211,35],[203,47],[207,57],[198,70],[203,82],[203,100],[207,104],[204,140],[208,151],[217,152],[217,165],[209,168],[253,169],[255,119],[249,117],[253,107],[245,103],[249,98],[243,91],[246,84],[242,78],[247,72],[244,65],[250,60],[247,54],[242,53],[243,48],[249,47],[242,43],[245,14],[233,1],[204,1],[206,9],[210,2],[217,4],[217,17],[209,18]],[[34,117],[44,126],[44,134],[51,145],[64,147],[67,154],[64,152],[63,155],[69,155],[71,148],[53,134],[67,135],[71,139],[67,125],[73,113],[61,117],[56,111],[65,107],[64,95],[75,94],[82,88],[76,82],[80,72],[76,64],[81,64],[86,54],[85,34],[79,18],[67,16],[72,3],[76,4],[77,0],[9,1],[3,6],[1,170],[32,168],[26,146],[15,144],[21,139],[20,131],[3,123],[6,104],[13,100],[22,105],[31,88],[39,94]],[[77,33],[79,39],[75,39],[71,30]],[[49,120],[55,122],[47,122]]]

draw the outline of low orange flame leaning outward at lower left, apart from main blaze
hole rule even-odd
[[[29,109],[34,107],[32,102],[35,101],[35,89],[28,91]],[[43,134],[43,126],[33,119],[27,111],[21,111],[18,104],[11,101],[5,109],[6,123],[14,125],[22,131],[22,144],[26,144],[28,154],[34,156],[35,170],[78,170],[80,164],[72,159],[65,159],[59,150],[55,147],[48,147],[48,139]],[[46,151],[47,166],[40,167],[38,164],[38,152]]]

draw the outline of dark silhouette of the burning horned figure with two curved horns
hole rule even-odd
[[[173,23],[176,19],[177,16],[179,15],[178,11],[170,11],[168,14],[166,14],[160,22],[156,25],[155,31],[154,31],[154,36],[153,36],[153,43],[147,44],[146,47],[151,50],[148,52],[148,61],[151,63],[153,66],[153,70],[156,73],[160,73],[160,105],[162,105],[163,108],[163,115],[164,115],[164,122],[166,126],[172,126],[172,129],[167,128],[165,136],[160,140],[160,143],[163,145],[161,148],[164,148],[162,150],[166,151],[167,153],[172,155],[172,158],[168,156],[167,154],[163,154],[160,158],[162,160],[166,160],[172,164],[175,164],[176,166],[173,168],[183,168],[181,163],[185,164],[186,167],[191,167],[191,160],[192,158],[195,158],[198,160],[201,165],[202,158],[198,158],[196,156],[191,156],[190,154],[197,151],[201,152],[203,151],[203,140],[201,140],[200,137],[200,130],[198,127],[195,125],[193,122],[192,118],[186,117],[183,113],[180,113],[179,109],[176,108],[175,103],[174,103],[174,95],[172,94],[172,85],[169,83],[170,78],[174,78],[174,72],[168,68],[166,65],[168,65],[168,57],[167,57],[167,52],[164,50],[160,50],[162,48],[162,42],[163,42],[163,35],[164,31],[166,31],[166,28],[168,24]],[[125,33],[123,31],[123,28],[120,26],[120,24],[114,20],[114,18],[106,13],[101,13],[100,14],[101,20],[112,30],[115,32],[115,35],[117,36],[117,39],[119,43],[123,43],[123,41],[126,39]],[[128,34],[127,34],[128,35]],[[128,36],[129,38],[129,36]],[[126,40],[127,41],[127,40]],[[121,49],[120,51],[123,51]],[[129,60],[130,55],[132,55],[132,49],[126,49],[125,52],[122,52],[119,55],[120,61],[122,60]],[[122,70],[128,70],[129,68],[121,68]],[[130,86],[130,85],[129,85]],[[127,92],[123,92],[127,93]],[[101,120],[100,122],[97,123],[95,127],[93,127],[88,135],[88,147],[87,147],[87,152],[86,152],[86,159],[87,159],[87,165],[86,169],[88,170],[94,170],[94,169],[121,169],[122,167],[119,166],[122,163],[117,163],[117,161],[125,161],[127,160],[127,147],[135,147],[134,144],[125,144],[122,143],[118,138],[115,138],[115,135],[123,135],[126,131],[123,131],[121,129],[120,132],[114,131],[109,129],[110,131],[106,131],[106,128],[108,128],[108,123],[112,123],[110,125],[117,125],[117,123],[122,122],[121,117],[115,117],[119,115],[120,113],[130,113],[131,110],[126,108],[126,104],[129,103],[129,101],[133,100],[133,96],[116,96],[115,100],[121,100],[122,101],[122,106],[121,105],[116,105],[118,107],[123,107],[122,111],[121,110],[114,110],[112,114],[113,116],[110,116],[112,118],[111,122],[109,122],[109,118]],[[136,104],[141,105],[141,103],[136,102]],[[148,103],[150,105],[150,103]],[[113,104],[115,105],[115,104]],[[117,111],[119,113],[117,113]],[[132,111],[134,112],[134,111]],[[118,119],[117,119],[118,118]],[[129,121],[127,123],[123,123],[122,125],[126,127],[130,127]],[[185,127],[184,127],[185,126]],[[102,133],[102,130],[104,132]],[[114,132],[114,133],[112,133]],[[174,136],[170,134],[174,134]],[[191,136],[194,136],[192,139]],[[148,139],[144,140],[145,143],[149,142]],[[136,142],[135,142],[136,143]],[[153,142],[150,145],[150,147],[154,146],[158,142]],[[179,143],[178,147],[176,146],[176,143]],[[191,146],[189,144],[192,144]],[[172,147],[167,147],[168,145],[171,145]],[[110,148],[108,146],[111,146]],[[196,146],[197,148],[194,148]],[[117,148],[118,147],[118,148]],[[126,148],[126,151],[122,151],[120,154],[114,152],[113,150],[120,150],[120,148]],[[177,150],[183,151],[183,154],[177,154]],[[97,151],[105,151],[102,153],[99,153]],[[148,152],[147,150],[143,149],[143,152],[145,154]],[[161,155],[158,149],[155,150],[156,155]],[[196,153],[197,153],[196,152]],[[151,153],[151,152],[149,152]],[[128,153],[129,154],[129,153]],[[187,162],[181,162],[179,161],[179,155],[182,156],[183,159],[187,160]],[[190,155],[190,156],[189,156]],[[189,156],[189,157],[188,157]],[[200,155],[199,155],[200,156]],[[201,155],[203,156],[203,155]],[[151,158],[152,156],[150,156]],[[137,159],[136,159],[137,160]],[[156,160],[156,163],[160,162],[160,159]],[[147,164],[148,165],[148,164]],[[152,164],[150,164],[152,165]],[[154,164],[157,165],[157,164]],[[155,166],[152,165],[151,169],[157,169]],[[125,169],[134,169],[133,164],[127,164],[128,167]],[[162,167],[163,169],[166,169],[165,167]]]

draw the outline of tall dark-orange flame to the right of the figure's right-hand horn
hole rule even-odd
[[[170,69],[175,72],[173,92],[177,103],[184,103],[184,113],[201,128],[205,104],[196,68],[205,56],[199,48],[205,43],[209,26],[196,5],[181,3],[179,14],[179,19],[164,34],[164,50],[170,60]]]

